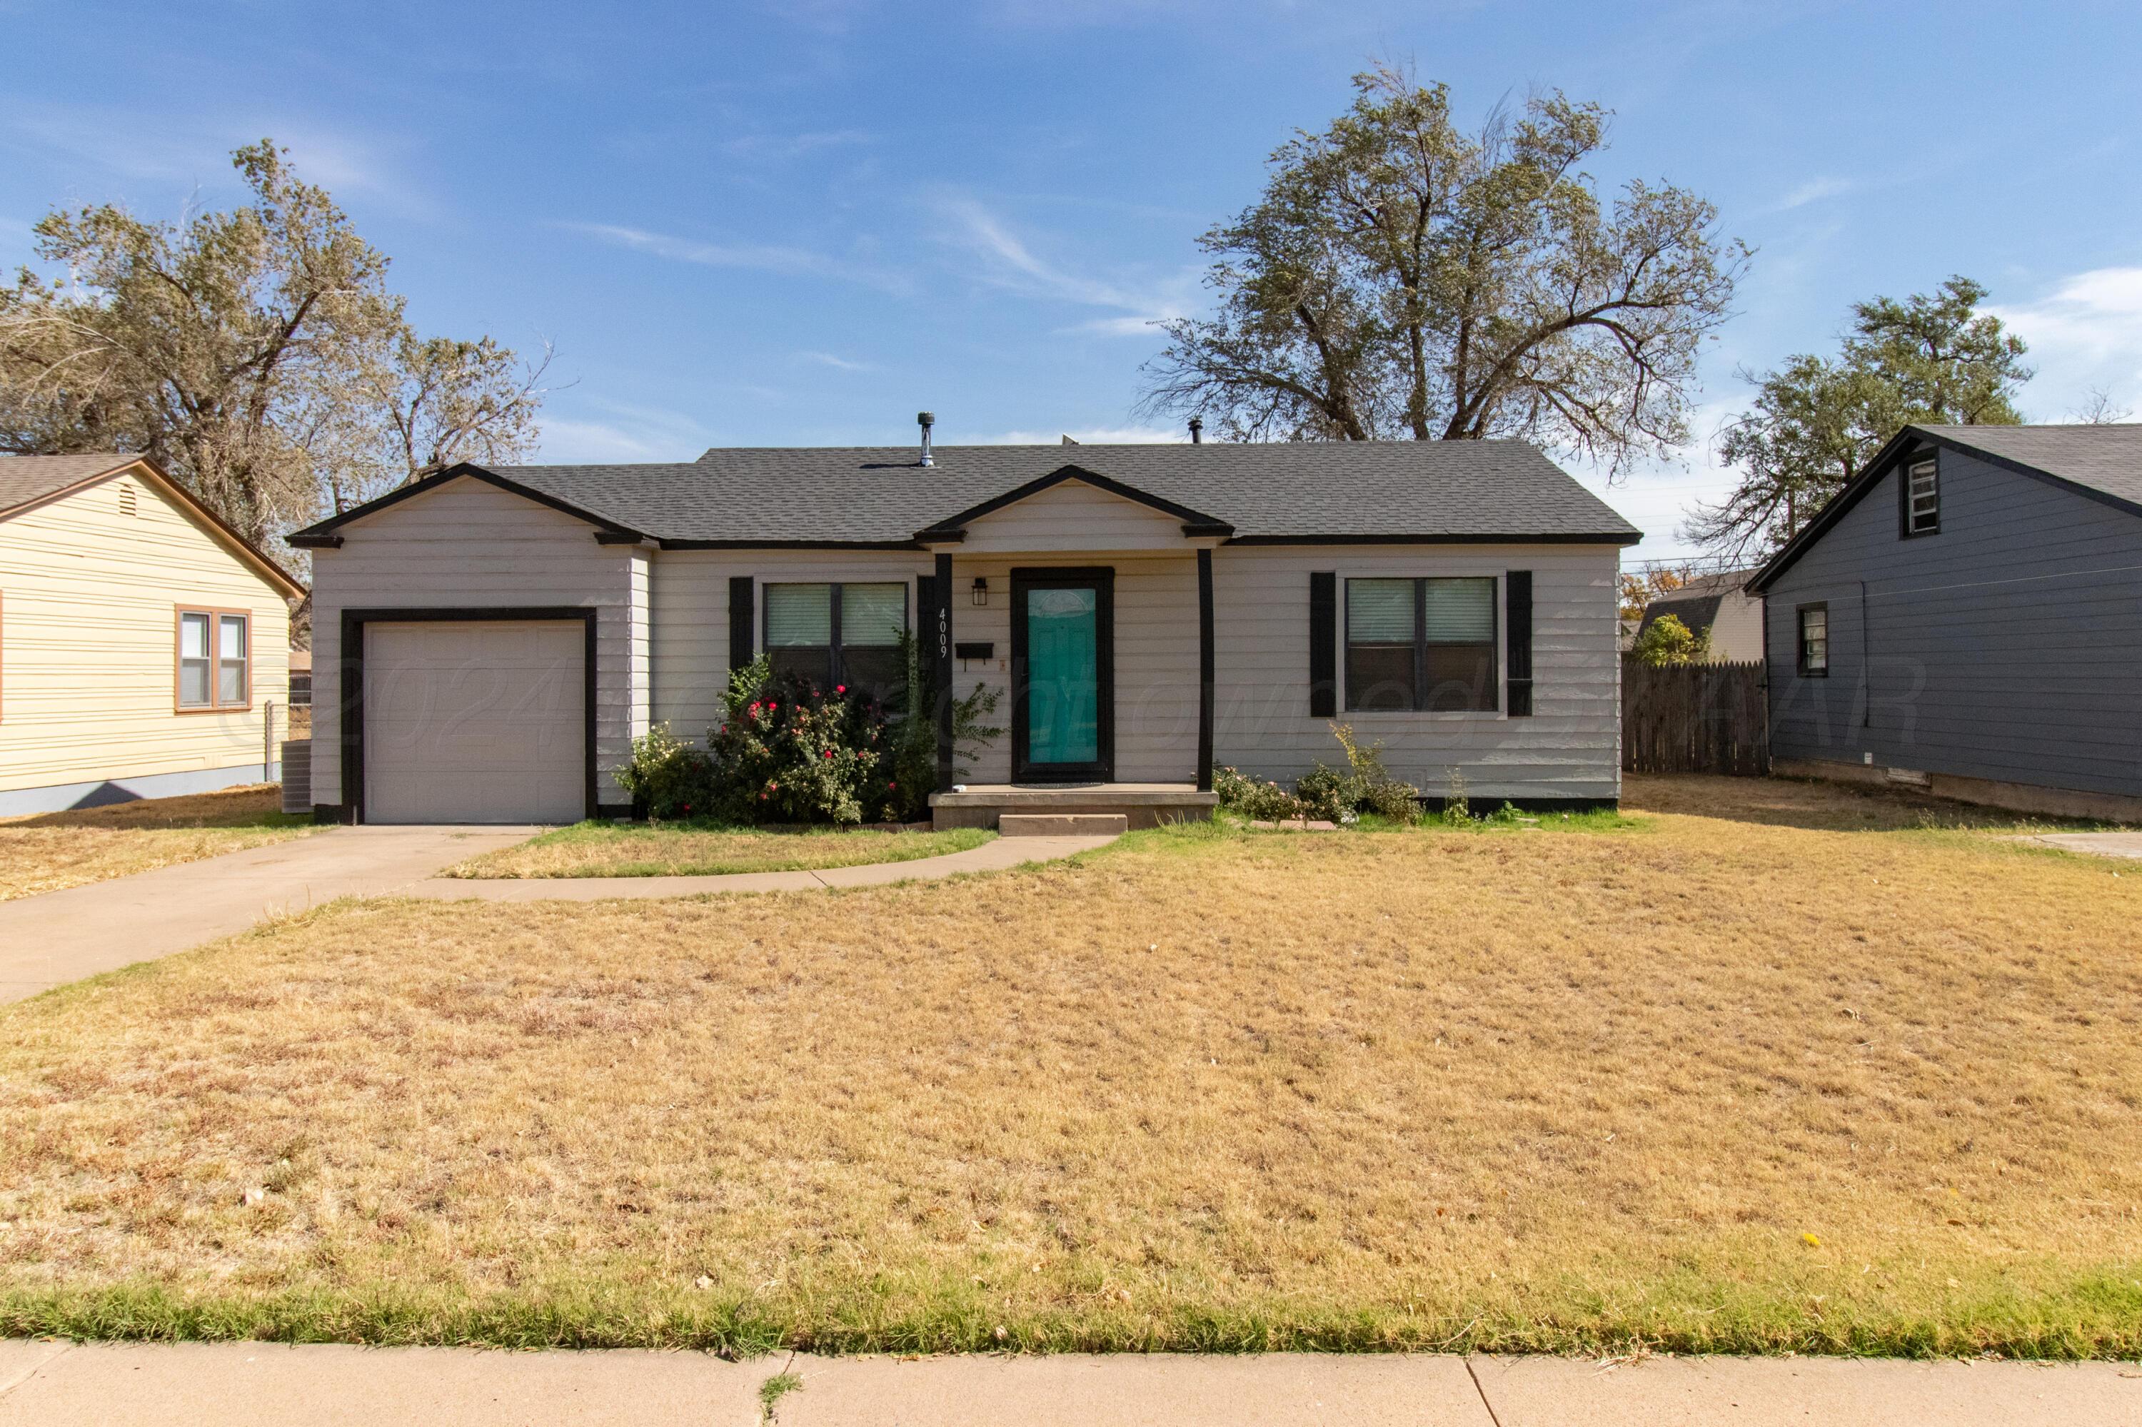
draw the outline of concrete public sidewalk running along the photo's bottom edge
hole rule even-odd
[[[763,1406],[778,1373],[799,1386]],[[2123,1363],[1032,1356],[0,1341],[0,1427],[2121,1427]]]

